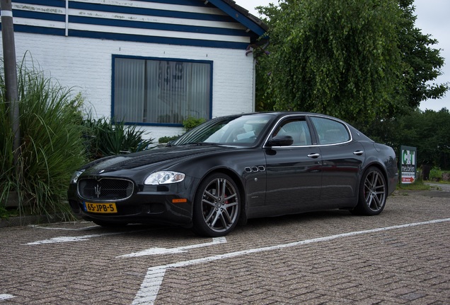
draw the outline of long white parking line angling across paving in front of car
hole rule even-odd
[[[273,251],[273,250],[284,249],[284,248],[289,248],[289,247],[293,247],[293,246],[301,246],[304,244],[313,244],[313,243],[317,243],[317,242],[321,242],[321,241],[330,241],[333,239],[340,239],[342,237],[352,237],[352,236],[356,236],[356,235],[388,231],[391,229],[402,229],[402,228],[407,228],[407,227],[416,227],[416,226],[420,226],[420,225],[430,225],[430,224],[435,224],[435,223],[439,223],[439,222],[450,222],[450,218],[445,218],[445,219],[440,219],[440,220],[429,220],[426,222],[413,222],[413,223],[405,224],[405,225],[395,225],[392,227],[381,227],[381,228],[368,229],[368,230],[363,230],[363,231],[335,234],[335,235],[330,235],[328,237],[318,237],[315,239],[294,241],[289,244],[279,244],[279,245],[275,245],[275,246],[267,246],[267,247],[262,247],[262,248],[248,249],[248,250],[243,250],[243,251],[219,254],[217,256],[208,256],[205,258],[197,258],[197,259],[193,259],[190,261],[181,261],[178,263],[171,263],[168,265],[159,265],[156,267],[151,267],[147,270],[146,276],[144,277],[144,281],[142,282],[142,285],[139,289],[139,292],[137,292],[136,297],[134,297],[132,304],[133,305],[154,304],[156,297],[158,297],[159,288],[161,287],[161,283],[163,282],[163,278],[164,278],[164,275],[166,274],[166,270],[171,269],[171,268],[185,267],[188,265],[195,265],[195,264],[199,264],[199,263],[209,263],[209,262],[221,260],[224,258],[232,258],[232,257],[236,257],[236,256],[243,256],[243,255],[247,255],[247,254],[259,253],[259,252],[264,252],[264,251]]]

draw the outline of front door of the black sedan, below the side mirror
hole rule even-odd
[[[270,138],[292,136],[292,145],[265,145],[266,205],[287,212],[311,210],[321,193],[321,155],[312,145],[304,116],[289,116],[277,124]],[[269,140],[270,140],[269,138]]]

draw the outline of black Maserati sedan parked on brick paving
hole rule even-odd
[[[91,162],[68,197],[97,225],[165,223],[220,237],[255,217],[378,215],[397,181],[394,150],[344,121],[268,112],[218,117],[167,147]]]

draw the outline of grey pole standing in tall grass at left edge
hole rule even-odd
[[[14,165],[18,166],[21,131],[19,125],[18,85],[16,68],[16,44],[14,43],[13,6],[11,0],[0,0],[1,37],[5,70],[6,102],[9,106],[9,118],[13,130]]]

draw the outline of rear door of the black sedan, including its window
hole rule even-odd
[[[365,159],[363,146],[352,139],[349,128],[341,121],[322,116],[310,119],[323,161],[321,201],[330,201],[331,205],[353,202]]]

